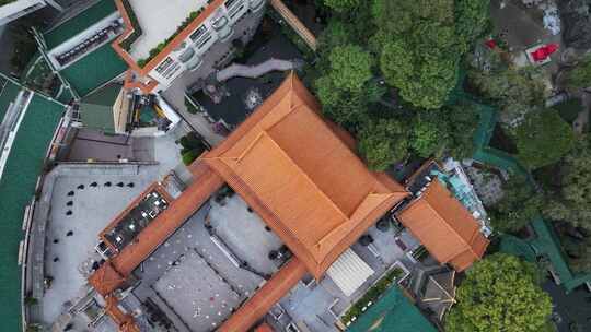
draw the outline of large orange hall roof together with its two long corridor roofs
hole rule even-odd
[[[294,253],[220,331],[245,331],[308,270],[317,278],[406,190],[369,171],[345,131],[318,115],[318,105],[290,74],[218,147],[189,169],[196,180],[90,282],[103,296],[176,230],[223,181],[230,185]],[[117,312],[114,312],[117,313]]]

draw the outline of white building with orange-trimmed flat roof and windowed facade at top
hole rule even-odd
[[[142,34],[125,50],[124,57],[130,67],[138,64],[141,70],[139,81],[144,84],[155,83],[155,91],[165,90],[183,72],[197,70],[202,64],[202,57],[217,42],[228,42],[233,26],[247,13],[259,12],[265,0],[225,0],[225,1],[179,1],[183,8],[160,4],[154,11],[155,0],[129,0],[134,15],[141,26]],[[198,4],[195,7],[195,4]],[[169,8],[170,7],[170,8]],[[183,31],[178,25],[187,17],[190,10],[198,13]],[[131,13],[127,13],[130,15]],[[169,20],[161,20],[162,16]],[[155,57],[149,57],[150,50],[175,35]],[[154,88],[151,88],[154,91]]]

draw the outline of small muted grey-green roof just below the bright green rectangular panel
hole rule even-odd
[[[83,98],[80,103],[82,123],[85,127],[114,133],[113,105],[121,91],[121,85],[109,84]]]

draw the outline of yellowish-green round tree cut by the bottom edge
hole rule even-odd
[[[457,288],[445,331],[538,331],[552,300],[537,282],[535,266],[513,256],[495,253],[476,262]]]

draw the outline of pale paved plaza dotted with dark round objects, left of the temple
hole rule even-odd
[[[46,322],[55,321],[65,304],[82,295],[86,280],[80,270],[94,253],[99,233],[154,180],[150,168],[139,175],[94,170],[61,175],[54,183],[45,256],[46,275],[54,281],[42,300]]]

